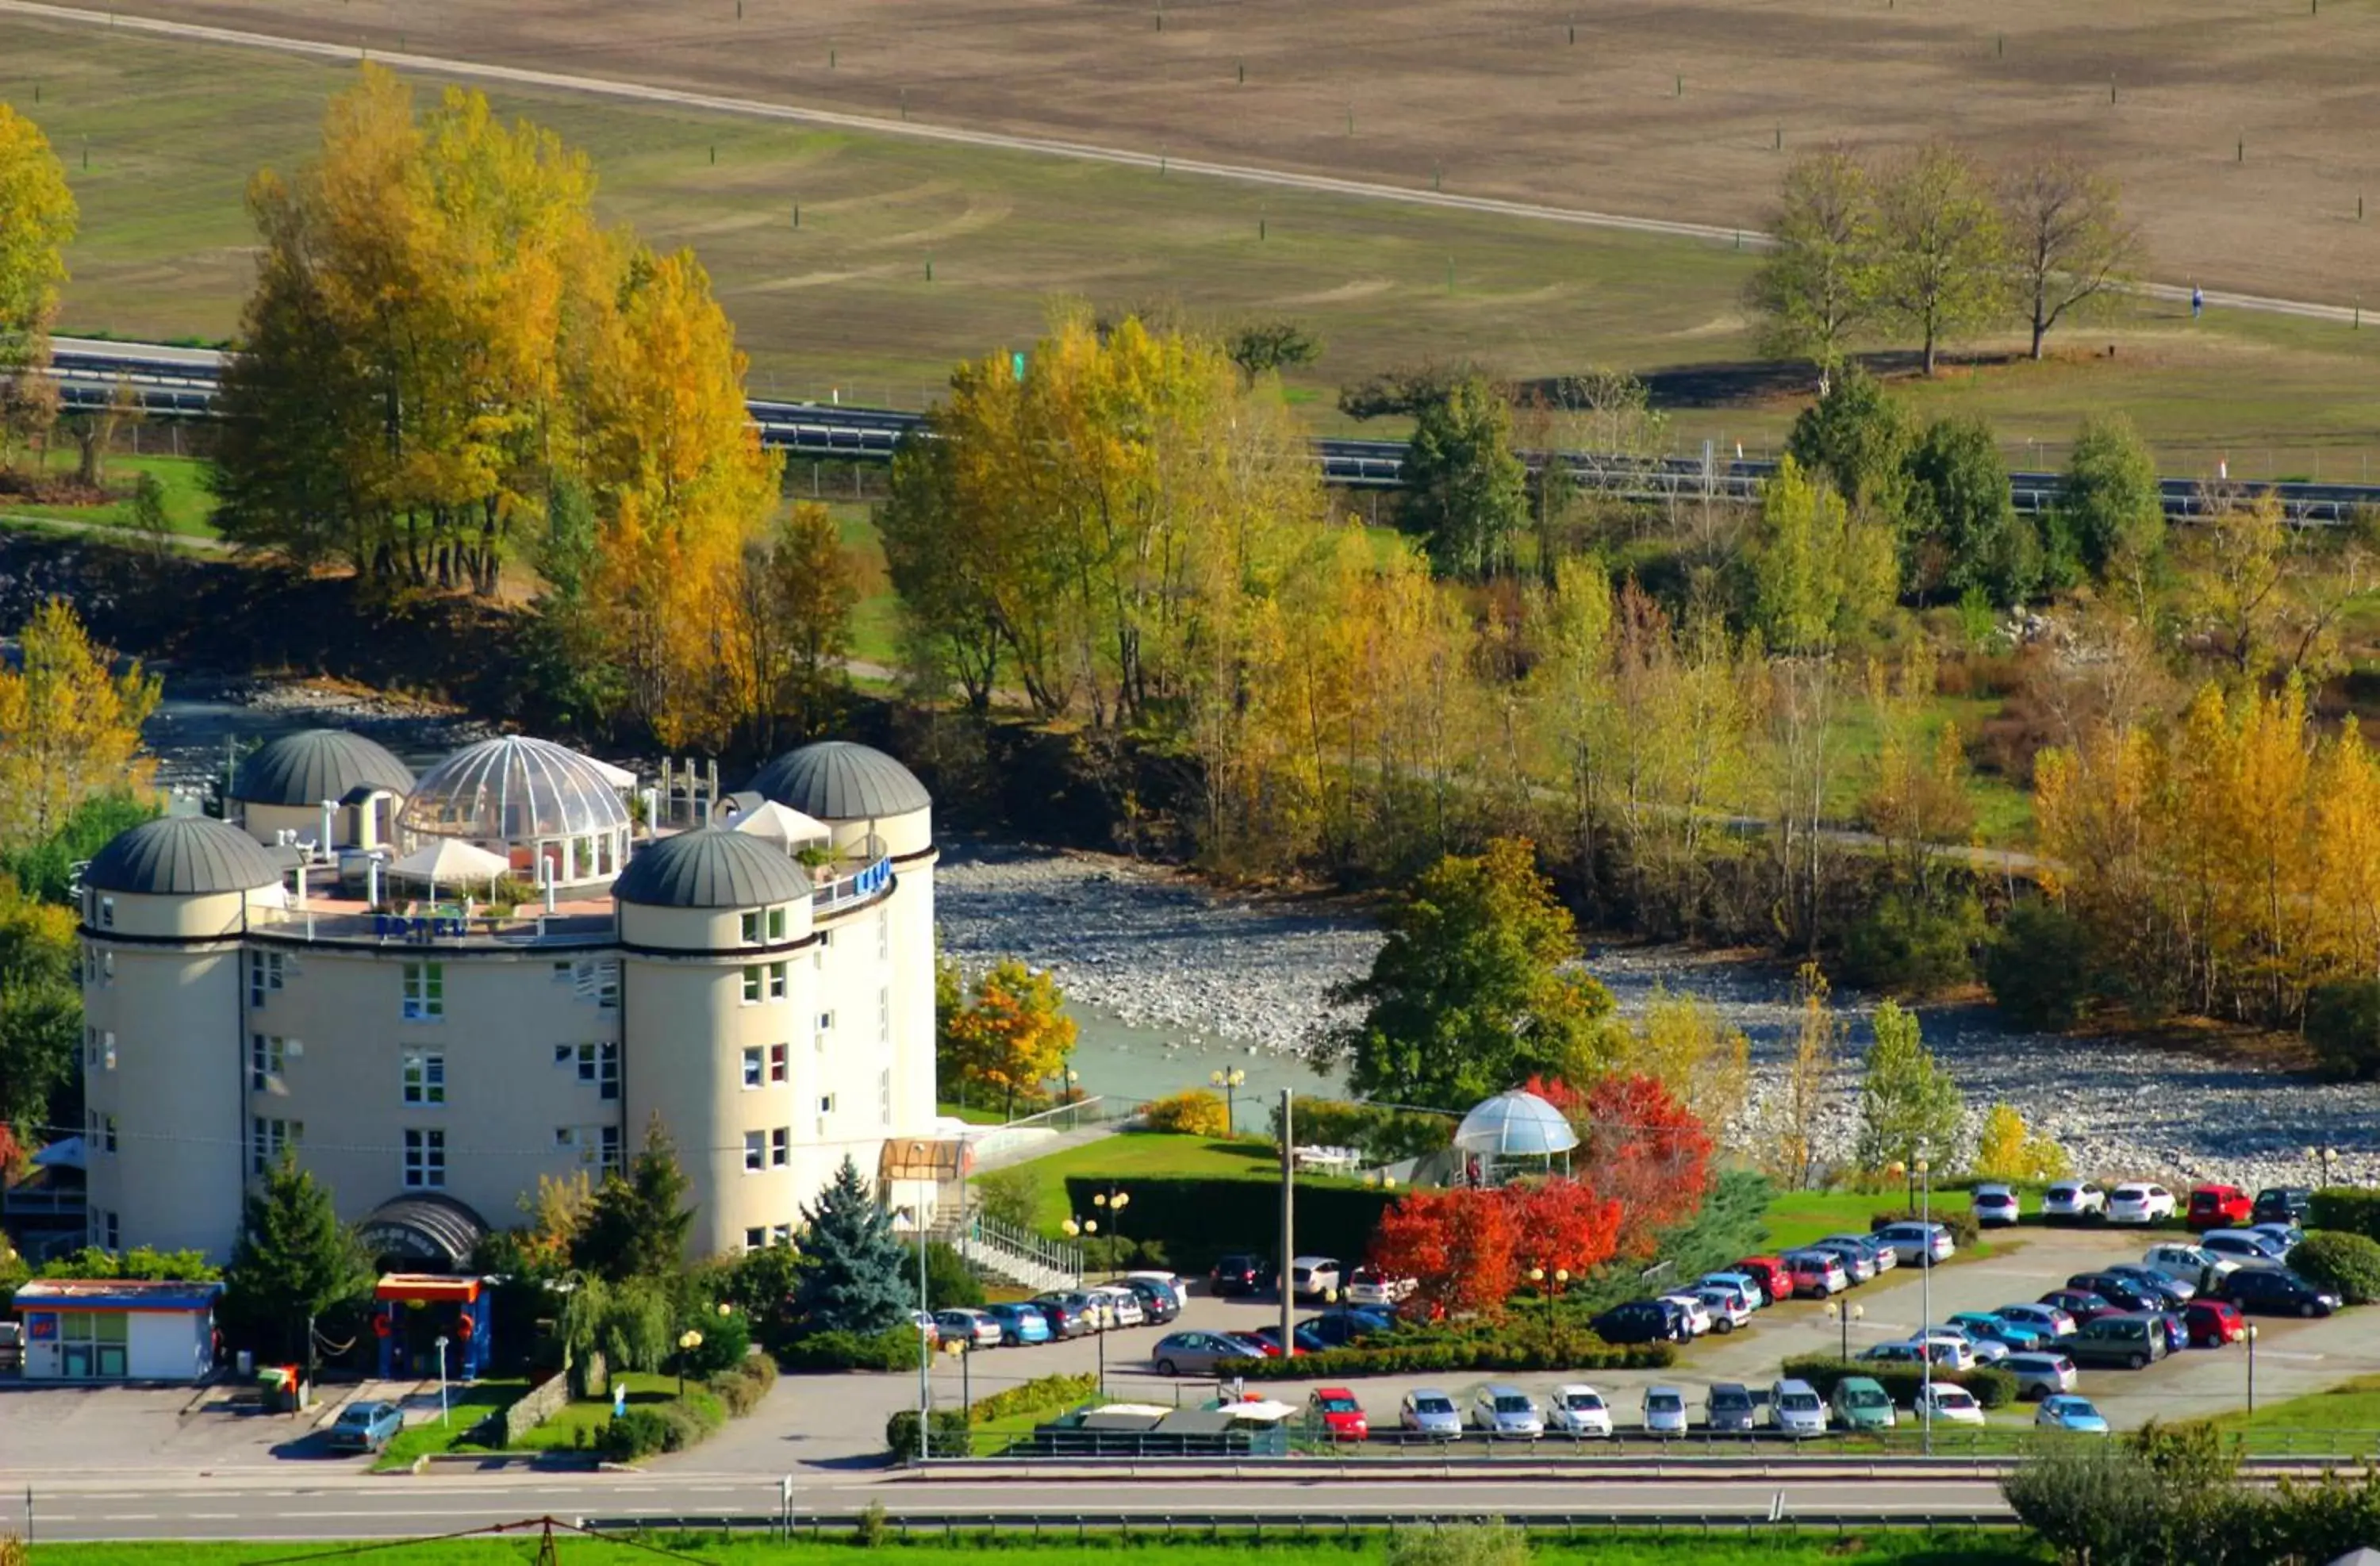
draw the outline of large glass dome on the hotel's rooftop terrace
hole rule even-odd
[[[619,769],[552,740],[505,735],[457,750],[421,773],[397,814],[402,850],[462,838],[505,854],[521,881],[612,881],[628,864]]]

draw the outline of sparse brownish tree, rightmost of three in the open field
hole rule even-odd
[[[2068,312],[2111,297],[2140,267],[2140,231],[2113,176],[2066,148],[2042,148],[1999,178],[2009,271],[2033,326],[2033,357]]]

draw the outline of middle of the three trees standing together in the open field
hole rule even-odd
[[[1878,178],[1875,207],[1875,297],[1894,324],[1918,333],[1930,376],[1944,338],[1990,326],[2006,307],[1999,202],[1975,159],[1928,143]]]

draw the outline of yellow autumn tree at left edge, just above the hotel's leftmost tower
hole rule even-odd
[[[17,664],[0,669],[0,847],[50,838],[100,795],[143,793],[157,769],[140,754],[140,724],[159,681],[83,633],[74,607],[52,597],[17,635]]]

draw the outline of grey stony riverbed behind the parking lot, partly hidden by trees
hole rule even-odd
[[[1128,859],[962,842],[935,876],[945,947],[966,971],[1000,957],[1052,969],[1069,995],[1128,1023],[1295,1052],[1335,1009],[1330,985],[1380,945],[1347,904],[1238,897]],[[1656,988],[1706,1000],[1752,1038],[1754,1097],[1775,1090],[1792,1050],[1792,985],[1771,964],[1685,947],[1597,947],[1590,969],[1637,1014]],[[1852,1135],[1864,997],[1852,1019],[1828,1152]],[[1966,1090],[1973,1119],[2009,1102],[2078,1171],[2102,1178],[2228,1178],[2247,1188],[2313,1183],[2311,1150],[2335,1147],[2332,1178],[2380,1178],[2380,1085],[2332,1085],[2113,1040],[2018,1033],[1990,1007],[1925,1007],[1925,1040]]]

